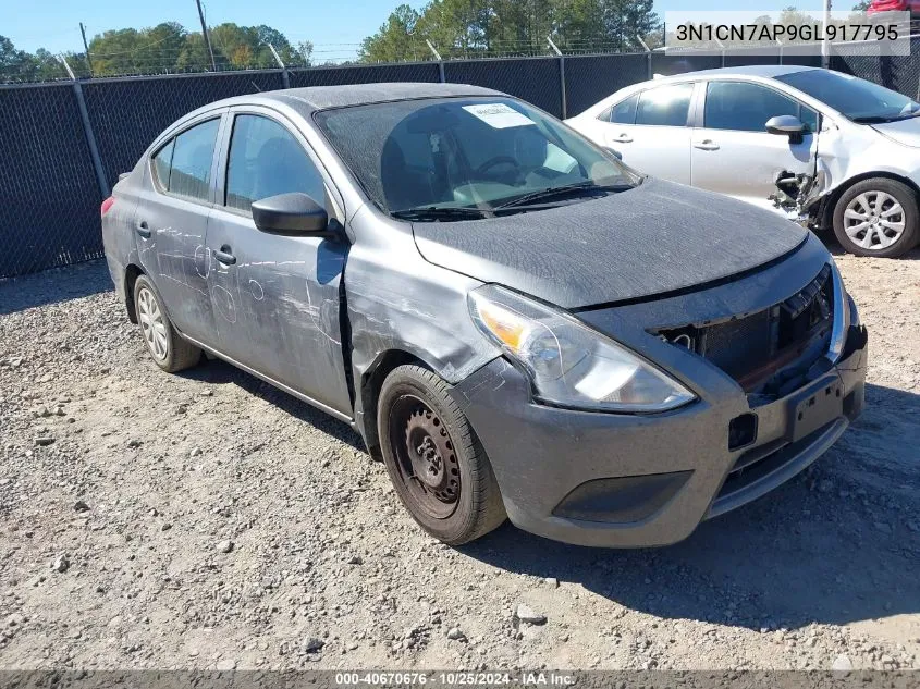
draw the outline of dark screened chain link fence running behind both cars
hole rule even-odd
[[[920,38],[909,57],[874,47],[831,66],[911,97],[920,90]],[[875,52],[873,52],[873,50]],[[578,54],[381,65],[275,69],[0,86],[0,279],[102,255],[99,204],[169,124],[200,106],[284,87],[375,82],[476,84],[560,116],[652,78],[743,64],[820,66],[820,56]]]

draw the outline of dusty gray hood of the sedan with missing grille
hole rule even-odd
[[[569,309],[724,280],[808,235],[770,211],[653,179],[601,199],[413,231],[427,261]]]

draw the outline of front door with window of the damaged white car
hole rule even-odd
[[[776,180],[814,174],[818,113],[777,89],[749,82],[706,85],[700,126],[692,131],[692,183],[773,208]],[[766,121],[795,115],[808,127],[799,140],[769,134]]]

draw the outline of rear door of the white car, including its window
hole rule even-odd
[[[646,174],[690,184],[689,113],[694,84],[665,84],[610,109],[603,145]]]

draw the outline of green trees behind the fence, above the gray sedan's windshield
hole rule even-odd
[[[442,57],[545,54],[547,37],[565,50],[637,49],[661,23],[653,0],[430,0],[421,11],[397,7],[364,40],[363,62]]]

